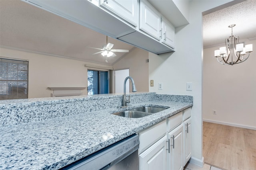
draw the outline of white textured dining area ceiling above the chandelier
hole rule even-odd
[[[256,37],[256,0],[246,0],[228,8],[218,10],[203,16],[204,47],[225,43],[226,37],[233,35],[240,39]]]

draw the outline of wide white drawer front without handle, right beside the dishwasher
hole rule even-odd
[[[140,136],[140,148],[139,153],[146,150],[153,143],[158,141],[161,137],[166,135],[166,120],[158,123],[139,133]]]

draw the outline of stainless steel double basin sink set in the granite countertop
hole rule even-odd
[[[122,116],[122,117],[128,117],[128,118],[140,118],[140,117],[145,117],[145,116],[151,115],[153,113],[157,113],[159,111],[163,111],[165,109],[167,109],[167,108],[153,107],[153,106],[142,106],[142,107],[137,107],[134,109],[119,111],[119,112],[112,113],[112,114]]]

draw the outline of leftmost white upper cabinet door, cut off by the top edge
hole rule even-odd
[[[138,0],[100,0],[100,6],[128,23],[138,25]]]

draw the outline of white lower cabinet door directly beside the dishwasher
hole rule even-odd
[[[139,170],[167,170],[167,137],[162,137],[139,155]]]

